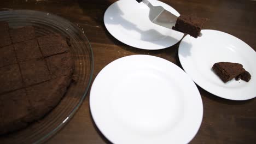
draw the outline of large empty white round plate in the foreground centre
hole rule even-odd
[[[177,65],[154,56],[119,58],[97,75],[90,93],[97,127],[113,143],[188,143],[203,105]]]

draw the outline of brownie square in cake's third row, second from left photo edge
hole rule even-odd
[[[50,79],[50,73],[44,59],[20,62],[20,69],[25,86],[30,86]]]

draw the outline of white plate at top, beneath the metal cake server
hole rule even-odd
[[[153,5],[161,5],[174,15],[179,13],[160,1],[148,0]],[[155,25],[149,20],[149,8],[135,0],[120,0],[106,10],[104,24],[109,33],[119,41],[146,50],[170,47],[182,39],[183,33]]]

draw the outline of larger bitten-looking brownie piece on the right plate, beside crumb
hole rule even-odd
[[[230,62],[215,63],[212,69],[225,83],[245,72],[242,64]]]

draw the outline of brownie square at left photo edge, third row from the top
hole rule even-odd
[[[0,68],[0,93],[9,92],[22,87],[22,78],[18,64]]]

